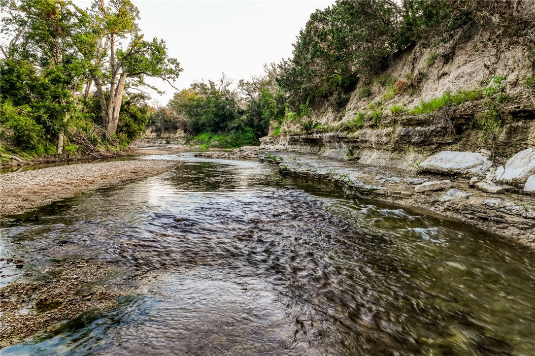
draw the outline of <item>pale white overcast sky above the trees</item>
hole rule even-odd
[[[91,1],[75,1],[88,7]],[[264,63],[279,63],[292,55],[292,43],[316,9],[334,0],[317,1],[136,1],[145,40],[163,38],[171,57],[184,72],[174,83],[182,89],[194,80],[217,80],[222,72],[238,82],[262,74]],[[175,90],[161,80],[150,81],[166,90],[151,97],[165,105]]]

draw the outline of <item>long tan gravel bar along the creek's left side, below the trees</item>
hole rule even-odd
[[[51,167],[0,175],[0,213],[24,213],[81,192],[131,183],[169,171],[177,162],[128,160]]]

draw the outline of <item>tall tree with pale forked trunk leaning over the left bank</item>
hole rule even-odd
[[[113,0],[109,5],[104,0],[95,0],[92,6],[93,47],[86,53],[94,56],[90,70],[100,100],[102,122],[109,134],[116,133],[119,122],[123,92],[126,86],[148,86],[146,77],[157,77],[170,83],[178,78],[182,68],[177,59],[167,56],[165,42],[143,41],[139,34],[139,10],[129,0]],[[120,48],[120,41],[128,41]],[[91,81],[87,83],[89,92]],[[104,95],[108,86],[109,98]],[[156,88],[153,88],[156,89]]]

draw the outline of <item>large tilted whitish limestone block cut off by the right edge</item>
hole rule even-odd
[[[500,167],[501,168],[501,167]],[[496,171],[496,180],[509,184],[524,185],[530,175],[535,174],[535,149],[520,151],[505,164],[503,174]]]

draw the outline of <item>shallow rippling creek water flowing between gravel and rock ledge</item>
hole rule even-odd
[[[161,158],[182,164],[3,224],[27,264],[2,285],[77,257],[151,278],[1,354],[535,354],[524,247],[257,162]]]

